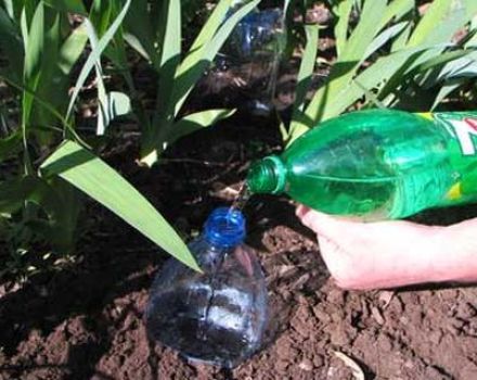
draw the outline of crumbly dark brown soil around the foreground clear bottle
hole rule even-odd
[[[230,204],[246,164],[279,147],[275,128],[253,123],[181,141],[153,170],[133,164],[133,139],[108,160],[191,236],[216,205]],[[343,291],[288,200],[257,197],[245,212],[273,315],[271,338],[253,359],[223,371],[150,342],[147,289],[167,256],[90,204],[76,262],[2,284],[0,379],[359,379],[336,353],[365,379],[477,378],[477,289]]]

